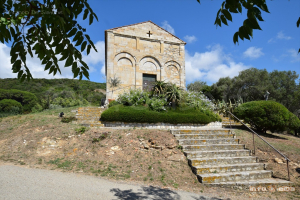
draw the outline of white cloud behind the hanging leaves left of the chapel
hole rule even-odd
[[[105,48],[104,42],[98,41],[95,43],[95,46],[98,52],[95,52],[91,49],[90,54],[87,56],[83,54],[83,60],[87,63],[90,70],[89,72],[100,71],[104,62],[105,62]],[[34,55],[35,56],[35,55]],[[58,57],[58,59],[60,56]],[[48,74],[49,71],[44,71],[45,66],[41,64],[39,58],[34,57],[31,58],[29,55],[26,57],[27,59],[27,66],[30,69],[30,72],[33,78],[73,78],[73,73],[71,67],[64,67],[65,60],[59,61],[58,65],[61,70],[61,74],[59,72],[56,73],[55,76],[53,74]],[[12,73],[11,64],[10,64],[10,47],[6,46],[5,44],[0,43],[0,60],[1,60],[1,67],[0,67],[0,78],[16,78],[17,74]],[[97,70],[98,69],[98,70]],[[102,71],[101,71],[102,72]]]

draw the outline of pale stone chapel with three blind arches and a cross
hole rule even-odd
[[[106,99],[116,99],[129,89],[148,90],[154,81],[185,89],[185,44],[151,21],[106,30]],[[121,84],[111,87],[111,78]]]

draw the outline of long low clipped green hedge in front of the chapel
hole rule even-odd
[[[208,124],[221,121],[221,118],[209,110],[185,108],[156,112],[145,106],[116,105],[101,114],[101,121],[136,122],[136,123],[197,123]]]

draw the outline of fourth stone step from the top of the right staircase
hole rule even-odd
[[[244,144],[211,144],[211,145],[182,145],[183,150],[211,151],[211,150],[237,150],[245,149]]]

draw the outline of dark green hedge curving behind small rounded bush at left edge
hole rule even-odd
[[[23,106],[24,112],[31,112],[31,109],[37,103],[37,98],[34,94],[30,92],[25,92],[21,90],[4,90],[0,89],[0,100],[2,99],[13,99],[18,101]]]

